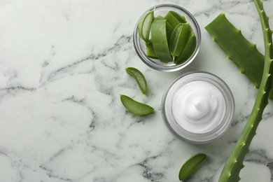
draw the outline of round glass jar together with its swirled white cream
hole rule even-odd
[[[162,116],[169,130],[192,144],[206,144],[228,130],[235,101],[221,78],[187,73],[169,84],[162,99]]]

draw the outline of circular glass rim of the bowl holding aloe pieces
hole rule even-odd
[[[137,27],[139,25],[139,21],[140,21],[142,15],[144,15],[144,13],[146,13],[147,11],[153,10],[153,9],[156,10],[158,8],[175,8],[176,10],[181,11],[182,13],[184,13],[185,15],[188,16],[188,18],[193,23],[193,25],[196,29],[195,36],[197,38],[197,45],[195,48],[195,52],[193,52],[193,55],[191,55],[191,57],[189,57],[188,60],[186,60],[186,62],[183,62],[183,64],[177,64],[174,66],[164,66],[164,65],[156,64],[153,62],[153,59],[151,59],[150,57],[147,57],[146,54],[144,54],[144,52],[142,52],[140,49],[141,45],[140,45],[139,41],[137,41],[139,39],[139,34],[137,33]],[[155,69],[158,71],[165,71],[165,72],[179,71],[180,69],[185,68],[186,66],[188,66],[188,64],[193,62],[193,60],[197,56],[197,53],[200,50],[200,45],[201,45],[201,31],[200,31],[200,27],[198,25],[198,22],[197,22],[197,20],[195,20],[194,16],[188,10],[186,10],[186,8],[183,8],[181,6],[178,6],[178,5],[172,4],[172,3],[162,3],[162,4],[158,4],[156,6],[152,6],[151,8],[148,8],[148,10],[146,10],[144,13],[141,15],[141,17],[137,21],[137,25],[134,27],[134,34],[133,34],[134,50],[137,52],[137,55],[139,56],[141,61],[144,62],[147,66],[151,67],[152,69]]]

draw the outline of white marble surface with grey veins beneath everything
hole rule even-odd
[[[200,24],[200,53],[183,71],[154,71],[134,52],[139,16],[159,3],[187,8]],[[265,8],[273,27],[273,1],[265,1]],[[0,181],[179,181],[183,162],[199,152],[209,160],[189,181],[217,181],[256,93],[204,30],[221,12],[263,50],[258,13],[249,0],[1,0]],[[147,97],[125,73],[127,66],[146,76]],[[223,78],[236,101],[230,130],[204,146],[176,139],[160,113],[167,84],[194,70]],[[128,113],[119,94],[154,106],[155,113]],[[270,102],[242,181],[273,179],[267,167],[273,161],[272,109]]]

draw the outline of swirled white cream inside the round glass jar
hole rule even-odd
[[[172,112],[176,123],[188,132],[211,132],[225,116],[225,98],[221,90],[206,81],[193,81],[174,95]]]

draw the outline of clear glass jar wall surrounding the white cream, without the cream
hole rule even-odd
[[[223,120],[219,120],[217,127],[213,130],[204,133],[193,133],[183,129],[183,127],[176,122],[172,112],[172,102],[176,92],[178,92],[183,85],[197,80],[205,81],[216,86],[223,94],[225,100],[225,114]],[[235,101],[230,88],[221,78],[207,72],[193,72],[179,76],[179,78],[176,78],[169,84],[162,97],[161,107],[165,124],[176,137],[188,141],[191,144],[206,144],[218,139],[228,130],[228,127],[230,127],[230,124],[232,123],[235,111]]]

